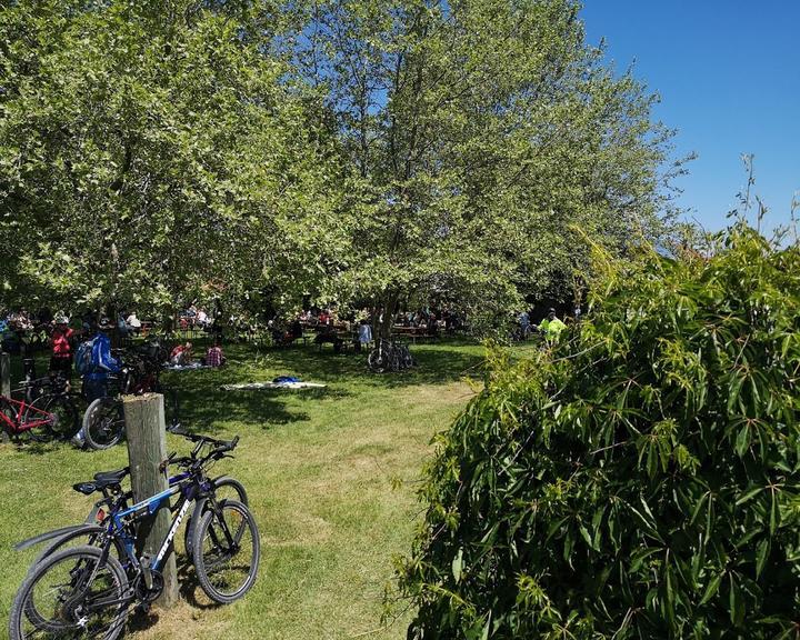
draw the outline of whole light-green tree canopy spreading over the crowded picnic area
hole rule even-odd
[[[574,0],[0,13],[2,298],[566,296],[658,237],[671,132]],[[664,171],[664,169],[668,169]],[[390,317],[389,313],[386,314]]]

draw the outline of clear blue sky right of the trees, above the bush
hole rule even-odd
[[[800,190],[800,0],[584,0],[590,43],[661,96],[656,117],[696,151],[679,203],[708,230],[726,226],[753,153],[756,192],[787,223]],[[798,211],[800,216],[800,211]]]

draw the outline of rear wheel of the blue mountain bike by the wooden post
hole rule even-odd
[[[128,578],[96,547],[50,556],[22,582],[11,604],[11,640],[114,640],[128,617]]]

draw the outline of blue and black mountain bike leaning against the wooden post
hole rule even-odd
[[[12,640],[118,638],[130,607],[147,609],[161,594],[164,559],[192,504],[203,504],[192,543],[192,562],[202,590],[220,603],[233,602],[250,590],[260,560],[258,528],[247,506],[238,500],[217,500],[207,487],[206,473],[211,463],[228,457],[239,439],[203,440],[209,446],[204,456],[196,448],[190,457],[171,457],[163,462],[164,469],[170,462],[182,468],[183,478],[172,487],[112,513],[94,546],[54,551],[28,573],[11,606]],[[76,488],[91,493],[113,481],[109,478]],[[142,526],[168,508],[172,497],[178,501],[158,552],[152,557],[138,552]]]

